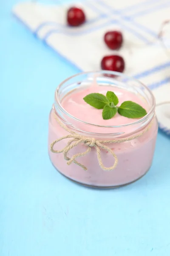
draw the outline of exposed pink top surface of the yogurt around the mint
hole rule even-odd
[[[116,126],[136,121],[136,119],[121,116],[119,113],[116,113],[111,119],[104,120],[102,118],[102,109],[96,109],[83,100],[83,98],[90,93],[101,93],[106,95],[108,91],[113,91],[118,97],[119,103],[117,106],[120,106],[122,102],[132,101],[141,105],[143,108],[147,108],[146,102],[144,102],[139,95],[112,86],[91,86],[80,90],[74,90],[72,93],[65,96],[62,101],[62,106],[72,116],[95,125]]]

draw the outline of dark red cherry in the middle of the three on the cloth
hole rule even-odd
[[[110,49],[119,49],[122,46],[123,42],[122,33],[119,31],[109,31],[105,33],[104,40]]]

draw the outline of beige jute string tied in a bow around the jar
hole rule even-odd
[[[57,123],[63,128],[65,129],[65,131],[68,131],[68,135],[63,136],[61,138],[59,138],[58,140],[54,140],[53,143],[51,143],[51,151],[53,153],[63,153],[64,155],[64,159],[67,161],[68,165],[71,165],[71,163],[75,163],[78,166],[82,167],[82,169],[87,170],[87,167],[85,167],[84,165],[82,165],[81,163],[77,162],[76,158],[77,157],[82,157],[85,156],[86,154],[88,154],[91,151],[91,148],[95,148],[96,152],[97,152],[97,158],[99,161],[99,166],[104,170],[104,171],[111,171],[113,169],[116,168],[117,164],[118,164],[118,158],[116,156],[116,154],[111,150],[111,148],[109,148],[108,146],[104,145],[104,144],[111,144],[111,143],[122,143],[125,141],[129,141],[129,140],[134,140],[136,138],[141,137],[145,132],[147,132],[150,127],[152,126],[152,122],[150,122],[150,124],[139,134],[135,135],[135,136],[131,136],[131,137],[127,137],[124,139],[118,139],[118,140],[96,140],[95,138],[90,138],[90,137],[84,137],[82,135],[77,134],[74,131],[71,131],[70,129],[68,129],[66,127],[66,125],[64,125],[56,116],[56,114],[54,114],[54,118],[56,119]],[[71,140],[68,141],[67,145],[62,148],[61,150],[54,150],[54,145],[57,144],[59,141],[61,140],[65,140],[71,138]],[[84,144],[86,145],[88,148],[85,152],[82,153],[77,153],[74,154],[71,158],[68,157],[68,152],[71,150],[71,148],[76,147],[79,144]],[[114,164],[111,167],[105,167],[102,163],[102,159],[101,159],[101,150],[104,149],[105,151],[108,151],[114,158]]]

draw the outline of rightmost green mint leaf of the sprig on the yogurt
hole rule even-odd
[[[128,118],[140,118],[147,114],[144,108],[142,108],[139,104],[131,101],[123,102],[118,108],[118,113],[121,116]]]

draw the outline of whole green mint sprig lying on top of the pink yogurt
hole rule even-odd
[[[119,115],[128,118],[141,118],[147,114],[146,110],[132,101],[123,102],[120,107],[116,105],[119,99],[115,93],[108,91],[106,96],[101,93],[91,93],[85,96],[84,101],[97,109],[103,109],[103,119],[111,119],[118,112]]]

